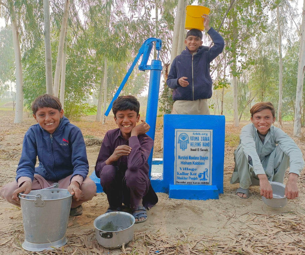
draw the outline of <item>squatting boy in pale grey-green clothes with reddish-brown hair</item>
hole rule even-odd
[[[242,128],[234,152],[235,168],[230,183],[239,182],[236,195],[248,198],[249,186],[260,185],[260,195],[271,199],[269,181],[283,183],[290,162],[285,196],[295,199],[299,196],[296,181],[304,167],[301,150],[282,129],[272,126],[275,121],[272,103],[257,103],[250,113],[252,123]]]

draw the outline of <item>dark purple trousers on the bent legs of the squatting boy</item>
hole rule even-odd
[[[100,178],[111,209],[121,207],[124,203],[134,210],[151,187],[149,177],[141,169],[137,171],[127,169],[124,172],[116,166],[106,165],[101,170]]]

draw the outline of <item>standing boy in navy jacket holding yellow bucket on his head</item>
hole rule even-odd
[[[186,48],[177,56],[170,67],[166,84],[174,89],[172,114],[205,114],[209,115],[208,98],[212,96],[212,78],[210,63],[224,49],[224,39],[213,27],[210,18],[203,14],[204,28],[214,45],[202,46],[202,32],[191,29],[186,34]]]

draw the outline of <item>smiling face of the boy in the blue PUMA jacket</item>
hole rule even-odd
[[[63,117],[63,109],[59,111],[50,107],[39,107],[33,116],[41,128],[53,134],[59,126],[60,118]]]

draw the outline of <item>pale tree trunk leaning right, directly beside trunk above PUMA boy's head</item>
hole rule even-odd
[[[61,65],[63,62],[63,46],[64,46],[64,42],[65,42],[69,4],[70,4],[70,0],[65,0],[65,7],[63,10],[63,12],[64,12],[63,20],[61,22],[60,34],[59,34],[59,44],[58,44],[56,68],[55,68],[55,74],[54,74],[54,85],[53,85],[53,93],[54,93],[54,96],[56,96],[56,97],[58,97],[58,93],[59,93],[59,79],[60,79]]]

